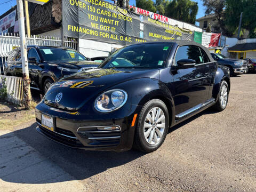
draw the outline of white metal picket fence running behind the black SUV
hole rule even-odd
[[[34,35],[31,38],[26,37],[27,45],[39,46],[65,46],[77,50],[77,41],[71,38],[65,38],[63,43],[59,37]],[[63,44],[63,45],[62,45]],[[4,63],[13,49],[20,46],[20,37],[13,34],[0,35],[0,75],[4,74]]]

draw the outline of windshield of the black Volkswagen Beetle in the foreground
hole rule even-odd
[[[149,43],[123,47],[103,61],[100,68],[162,68],[170,43]]]

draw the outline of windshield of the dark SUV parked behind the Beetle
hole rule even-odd
[[[55,47],[45,47],[39,49],[45,61],[53,60],[88,60],[84,55],[73,49],[61,49]]]

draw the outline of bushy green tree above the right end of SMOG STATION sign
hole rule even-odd
[[[197,2],[191,0],[173,0],[166,7],[166,17],[194,24],[198,11]]]

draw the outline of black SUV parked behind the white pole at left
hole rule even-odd
[[[69,47],[27,46],[30,88],[45,93],[52,83],[78,70],[97,68],[99,63],[90,61]],[[5,75],[22,77],[21,52],[10,52],[5,63]]]

